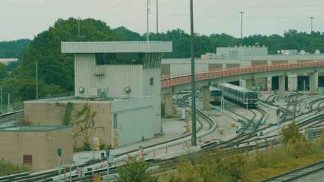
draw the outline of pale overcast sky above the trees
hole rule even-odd
[[[150,2],[150,32],[156,32],[156,0]],[[194,0],[195,32],[243,35],[285,30],[324,32],[324,0]],[[33,39],[59,19],[100,19],[111,28],[146,31],[146,0],[0,0],[0,41]],[[159,0],[159,32],[190,31],[190,0]]]

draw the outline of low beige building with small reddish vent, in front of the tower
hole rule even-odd
[[[28,165],[35,171],[58,165],[57,148],[62,148],[62,164],[73,154],[71,126],[15,125],[0,128],[0,159]]]

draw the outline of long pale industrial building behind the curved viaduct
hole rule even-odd
[[[195,71],[222,70],[239,66],[271,65],[280,63],[300,63],[308,61],[323,61],[324,54],[316,50],[314,54],[304,50],[280,50],[279,54],[268,54],[265,46],[241,46],[216,48],[215,53],[201,55],[195,59]],[[161,76],[190,72],[190,59],[163,59],[161,62]],[[307,74],[286,75],[285,88],[289,91],[309,90],[309,76]],[[324,72],[315,73],[317,87],[324,86]],[[263,79],[242,80],[237,78],[234,83],[255,90],[278,90],[278,77],[264,77]]]

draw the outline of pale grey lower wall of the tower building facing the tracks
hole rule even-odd
[[[114,101],[111,103],[111,143],[114,147],[144,139],[160,132],[154,97]],[[114,119],[115,117],[115,119]],[[161,121],[160,121],[161,122]]]

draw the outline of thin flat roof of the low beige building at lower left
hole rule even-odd
[[[0,128],[0,132],[51,132],[71,127],[71,125],[10,125]]]

